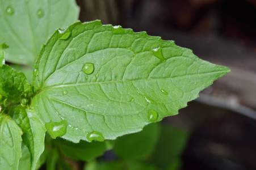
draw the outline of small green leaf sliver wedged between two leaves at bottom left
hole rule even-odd
[[[19,160],[19,169],[30,170],[30,151],[24,145],[22,145],[22,158]]]

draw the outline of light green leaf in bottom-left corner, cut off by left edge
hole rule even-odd
[[[22,157],[22,130],[7,114],[0,113],[1,169],[18,169]]]

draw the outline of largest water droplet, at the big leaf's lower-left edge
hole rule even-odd
[[[52,138],[62,137],[66,134],[66,126],[68,126],[64,121],[61,122],[48,122],[45,124],[45,128],[52,136]]]

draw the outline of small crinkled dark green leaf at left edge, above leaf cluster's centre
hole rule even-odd
[[[23,73],[18,73],[8,65],[0,67],[0,95],[11,100],[12,103],[18,103],[30,92],[31,85],[28,84]]]

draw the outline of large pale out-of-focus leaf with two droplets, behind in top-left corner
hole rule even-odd
[[[33,66],[52,32],[77,21],[78,15],[74,0],[0,0],[0,43],[10,46],[7,60]]]

